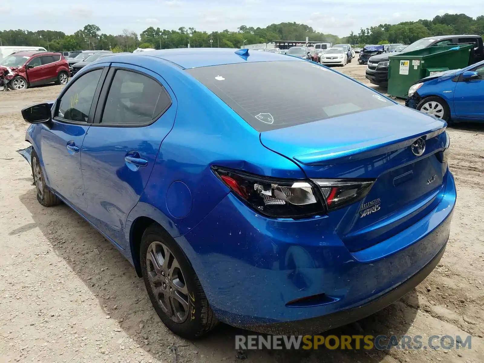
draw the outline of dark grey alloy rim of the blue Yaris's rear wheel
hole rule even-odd
[[[168,318],[183,323],[190,311],[188,287],[178,260],[163,242],[151,242],[146,252],[146,269],[158,305]]]

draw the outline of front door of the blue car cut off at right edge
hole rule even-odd
[[[454,90],[454,110],[458,117],[484,119],[484,65],[473,69],[477,79],[459,81]]]

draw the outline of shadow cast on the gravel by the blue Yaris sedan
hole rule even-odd
[[[225,324],[220,324],[209,336],[196,341],[181,339],[170,333],[158,318],[148,299],[143,280],[136,276],[131,264],[76,212],[66,205],[42,207],[37,202],[34,187],[21,195],[20,201],[31,213],[35,226],[41,230],[54,253],[61,257],[89,288],[104,314],[119,323],[121,329],[133,340],[134,343],[131,345],[139,345],[144,349],[144,360],[172,362],[171,346],[178,347],[179,363],[242,362],[240,358],[243,358],[244,354],[247,355],[244,363],[374,363],[383,360],[387,354],[386,351],[376,349],[326,348],[265,349],[238,353],[235,349],[235,335],[255,333]],[[28,224],[23,228],[31,227],[32,224]],[[17,228],[14,233],[21,230],[22,227]],[[325,335],[406,334],[415,319],[418,306],[417,292],[413,289],[400,301],[382,311],[357,323],[326,332]],[[104,320],[100,320],[99,324],[102,323]]]

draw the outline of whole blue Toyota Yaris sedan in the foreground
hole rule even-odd
[[[312,61],[107,57],[22,114],[38,201],[113,243],[183,337],[364,318],[419,284],[449,237],[445,121]]]

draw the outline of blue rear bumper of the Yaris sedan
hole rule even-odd
[[[357,252],[334,233],[330,218],[268,219],[232,194],[176,240],[221,321],[265,333],[320,333],[377,312],[432,271],[456,201],[449,171],[444,183],[428,214]]]

